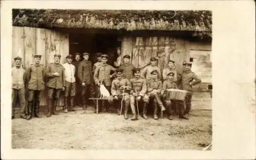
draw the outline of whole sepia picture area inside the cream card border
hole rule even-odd
[[[211,42],[210,10],[12,9],[12,148],[211,150]]]

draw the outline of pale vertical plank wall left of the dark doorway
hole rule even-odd
[[[48,67],[53,62],[53,55],[61,55],[61,64],[65,62],[65,57],[69,54],[69,35],[57,31],[30,28],[13,27],[12,29],[12,65],[13,58],[19,55],[23,58],[24,68],[33,63],[35,53],[42,55],[41,64]],[[45,81],[47,82],[47,81]],[[63,96],[61,96],[63,97]],[[40,105],[47,105],[47,87],[42,94]],[[58,105],[63,105],[63,98],[59,100]]]

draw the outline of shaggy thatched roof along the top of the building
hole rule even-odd
[[[211,36],[211,11],[13,9],[13,26],[193,31]]]

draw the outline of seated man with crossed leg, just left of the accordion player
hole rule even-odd
[[[148,97],[150,97],[150,99],[153,101],[153,106],[154,106],[154,119],[157,120],[158,116],[157,116],[157,110],[158,110],[158,106],[159,105],[161,107],[161,111],[164,111],[165,108],[163,106],[163,103],[161,101],[160,98],[160,92],[162,90],[162,81],[160,81],[157,77],[158,77],[158,71],[157,70],[153,70],[151,72],[151,79],[147,80],[147,95]]]

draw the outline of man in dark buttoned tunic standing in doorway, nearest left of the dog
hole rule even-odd
[[[89,53],[83,53],[83,60],[78,65],[78,78],[82,86],[82,109],[86,110],[88,106],[88,99],[95,97],[95,90],[93,86],[92,62],[89,61]],[[88,92],[89,90],[89,92]]]

